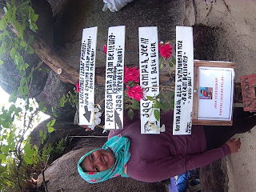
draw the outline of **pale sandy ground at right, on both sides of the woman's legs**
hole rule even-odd
[[[246,74],[256,74],[256,2],[252,0],[194,0],[186,2],[184,24],[203,24],[222,30],[216,60],[237,64],[235,82]],[[256,129],[239,134],[242,148],[228,156],[229,191],[256,191]]]

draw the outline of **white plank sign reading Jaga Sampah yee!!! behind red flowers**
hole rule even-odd
[[[160,121],[154,118],[154,111],[150,109],[153,102],[146,98],[159,94],[158,27],[139,27],[138,38],[140,86],[143,89],[143,98],[140,101],[141,133],[160,134],[160,130],[154,130],[160,126]]]

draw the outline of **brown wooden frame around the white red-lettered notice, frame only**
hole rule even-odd
[[[193,99],[192,124],[193,125],[210,125],[210,126],[232,126],[232,121],[198,119],[199,66],[235,68],[235,63],[234,62],[211,62],[211,61],[194,60],[194,99]]]

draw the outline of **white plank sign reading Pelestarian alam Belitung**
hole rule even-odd
[[[109,28],[106,53],[105,129],[123,128],[123,70],[126,26]]]

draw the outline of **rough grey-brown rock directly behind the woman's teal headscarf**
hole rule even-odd
[[[64,154],[61,158],[54,161],[45,171],[45,178],[47,182],[48,191],[104,191],[104,192],[150,192],[161,191],[169,192],[166,184],[162,182],[146,183],[138,182],[132,178],[111,178],[106,182],[97,184],[89,184],[85,182],[78,174],[77,163],[83,154],[89,150],[101,147],[106,139],[102,138],[87,138],[84,142],[79,143],[77,150],[72,150]],[[42,176],[39,176],[38,181],[42,181]]]

